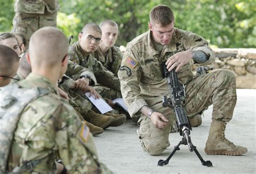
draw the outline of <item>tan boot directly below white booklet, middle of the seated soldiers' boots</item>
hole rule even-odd
[[[114,121],[114,118],[112,116],[98,114],[92,110],[88,111],[84,115],[84,117],[86,121],[89,121],[91,124],[101,127],[103,129],[109,126],[109,124]]]

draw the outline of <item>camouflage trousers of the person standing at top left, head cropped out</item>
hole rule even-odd
[[[12,33],[23,34],[28,43],[26,48],[28,48],[33,32],[45,26],[57,27],[57,12],[50,13],[45,11],[44,14],[16,12],[12,24],[14,25]]]

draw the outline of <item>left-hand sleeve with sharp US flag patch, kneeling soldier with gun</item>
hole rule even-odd
[[[122,60],[121,67],[118,71],[120,79],[121,92],[128,112],[133,117],[142,106],[147,105],[143,97],[140,95],[140,79],[142,78],[142,70],[139,64],[139,51],[127,44],[126,52]]]

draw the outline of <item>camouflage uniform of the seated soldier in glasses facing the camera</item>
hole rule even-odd
[[[87,56],[83,55],[83,49],[77,41],[70,49],[70,61],[66,75],[73,79],[79,79],[83,75],[89,75],[92,78],[90,85],[103,85],[107,88],[97,91],[103,98],[120,98],[120,82],[118,77],[108,71],[102,63],[93,58],[92,54]]]

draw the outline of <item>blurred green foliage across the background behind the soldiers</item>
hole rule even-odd
[[[256,47],[255,0],[59,0],[58,27],[77,35],[86,23],[112,19],[119,25],[116,45],[126,45],[149,30],[149,12],[157,4],[169,5],[176,27],[197,33],[220,48]],[[13,3],[0,0],[0,32],[10,31]]]

